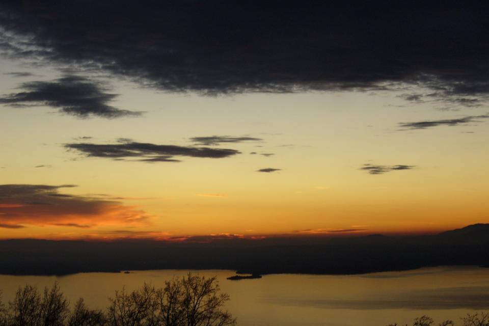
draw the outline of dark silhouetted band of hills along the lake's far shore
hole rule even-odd
[[[424,236],[228,239],[209,243],[2,240],[0,273],[63,275],[143,269],[358,274],[436,265],[489,265],[489,225]]]

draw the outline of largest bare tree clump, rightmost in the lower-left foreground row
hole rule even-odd
[[[165,287],[144,286],[116,291],[107,309],[111,326],[227,326],[236,319],[223,311],[229,295],[219,293],[215,277],[187,276],[167,281]]]

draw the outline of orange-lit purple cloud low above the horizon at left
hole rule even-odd
[[[146,225],[149,216],[115,200],[59,193],[74,185],[0,184],[0,223],[4,228]]]

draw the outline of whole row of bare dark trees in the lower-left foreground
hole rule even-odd
[[[192,274],[168,281],[164,288],[145,284],[132,292],[116,291],[105,310],[89,309],[83,298],[70,309],[57,283],[43,293],[26,285],[8,304],[0,300],[0,326],[235,325],[236,319],[223,310],[228,300],[215,278]]]

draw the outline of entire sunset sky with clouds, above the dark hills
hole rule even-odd
[[[488,223],[487,9],[3,2],[0,238]]]

